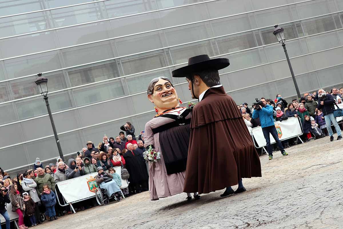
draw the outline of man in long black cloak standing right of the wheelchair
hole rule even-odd
[[[127,148],[128,151],[124,154],[124,158],[126,169],[130,173],[130,185],[136,193],[148,191],[146,183],[149,180],[149,176],[146,171],[143,154],[133,150],[133,145],[131,143],[127,145]]]

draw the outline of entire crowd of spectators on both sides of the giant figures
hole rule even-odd
[[[327,96],[324,99],[323,93]],[[284,121],[289,117],[299,117],[303,126],[304,141],[311,141],[314,137],[330,136],[336,130],[338,140],[342,138],[341,128],[333,120],[333,103],[341,104],[343,88],[333,88],[331,92],[319,90],[318,92],[305,93],[300,100],[287,102],[281,94],[276,98],[265,99],[265,103],[272,106],[275,121]],[[247,103],[237,105],[244,122],[251,134],[252,128],[261,126],[259,118],[252,118],[254,109],[249,108]],[[330,122],[330,125],[329,125]],[[331,122],[334,124],[331,127]],[[57,182],[73,179],[82,175],[97,172],[96,182],[106,188],[110,196],[120,199],[121,178],[115,173],[114,167],[126,167],[130,174],[129,187],[123,188],[125,197],[148,190],[147,165],[143,159],[144,131],[138,138],[135,136],[135,128],[127,122],[120,126],[122,131],[118,136],[104,136],[102,141],[95,146],[92,141],[86,142],[86,147],[75,155],[75,159],[63,162],[57,158],[56,164],[50,163],[43,166],[39,158],[36,158],[33,169],[17,174],[13,179],[0,168],[0,214],[6,219],[6,228],[10,228],[9,216],[6,212],[6,203],[12,204],[12,211],[19,215],[19,228],[27,228],[26,225],[35,226],[41,224],[40,214],[45,212],[49,220],[56,220],[57,215],[70,214],[69,207],[56,205],[56,195],[63,199],[55,190]],[[282,141],[283,148],[297,144],[297,139]],[[275,145],[274,150],[278,150]],[[84,210],[92,207],[94,203],[77,203],[76,210]],[[56,206],[56,210],[55,210]]]

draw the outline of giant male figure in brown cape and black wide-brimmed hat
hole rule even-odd
[[[210,193],[226,187],[221,196],[246,191],[242,178],[261,175],[261,163],[242,114],[220,84],[218,70],[226,58],[191,57],[173,77],[186,77],[194,106],[184,192]],[[233,191],[231,186],[238,183]]]

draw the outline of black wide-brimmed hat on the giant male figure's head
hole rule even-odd
[[[205,69],[220,70],[230,65],[227,58],[210,59],[208,55],[193,56],[188,59],[188,65],[171,72],[173,77],[186,77],[189,73]]]

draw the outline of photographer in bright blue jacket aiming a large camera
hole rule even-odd
[[[257,99],[256,99],[257,100]],[[267,151],[269,154],[269,160],[273,159],[273,148],[270,145],[269,134],[273,136],[276,141],[277,146],[281,150],[283,156],[288,155],[288,153],[283,148],[279,137],[277,136],[277,131],[274,125],[273,118],[273,107],[265,102],[264,98],[261,98],[260,102],[254,104],[254,112],[252,113],[252,118],[260,118],[260,123],[262,127],[263,136],[267,142]]]

